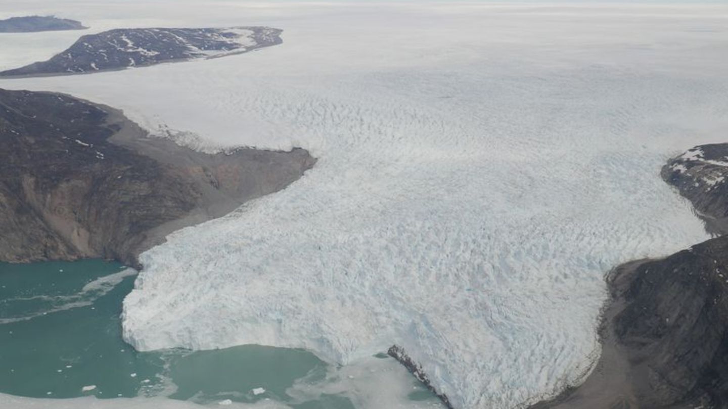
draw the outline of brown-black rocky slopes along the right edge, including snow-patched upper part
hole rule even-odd
[[[728,227],[728,144],[670,159],[662,178],[714,234]],[[609,274],[602,355],[584,384],[532,408],[728,408],[728,236]]]

